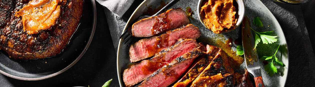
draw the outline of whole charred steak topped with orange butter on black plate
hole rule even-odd
[[[62,52],[83,9],[83,0],[0,0],[0,4],[0,49],[15,60]]]

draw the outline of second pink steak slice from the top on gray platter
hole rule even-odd
[[[197,39],[201,35],[199,28],[188,24],[160,36],[144,38],[130,46],[130,62],[134,63],[154,56],[157,52],[166,49],[176,43],[180,38]]]

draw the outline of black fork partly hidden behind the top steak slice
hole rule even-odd
[[[166,11],[167,9],[169,9],[170,7],[172,7],[178,1],[179,0],[172,0],[167,5],[165,5],[160,11],[155,13],[154,15],[152,15],[152,16],[149,16],[149,15],[141,16],[140,18],[138,18],[137,21],[140,21],[141,19],[144,19],[144,18],[157,16],[157,15],[163,13],[164,11]],[[132,25],[131,25],[131,26],[128,27],[128,29],[125,29],[125,31],[119,37],[119,39],[122,39],[122,41],[125,41],[124,44],[128,43],[127,46],[129,46],[130,44],[133,44],[133,43],[135,43],[136,41],[138,41],[138,40],[140,40],[142,38],[132,36]]]

